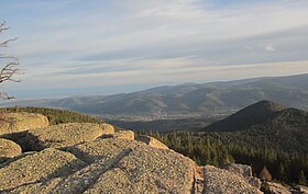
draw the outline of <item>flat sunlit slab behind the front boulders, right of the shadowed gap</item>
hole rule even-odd
[[[42,150],[95,140],[102,134],[103,129],[98,124],[69,123],[29,130],[24,139],[32,150]]]

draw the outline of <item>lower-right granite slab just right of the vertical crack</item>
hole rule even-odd
[[[251,186],[246,180],[237,173],[218,169],[212,166],[205,167],[205,194],[261,194],[262,192]]]

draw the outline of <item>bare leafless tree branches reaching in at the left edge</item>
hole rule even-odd
[[[0,35],[3,34],[9,30],[6,22],[0,23]],[[10,38],[10,39],[0,39],[0,49],[8,47],[9,43],[15,41],[16,38]],[[0,84],[2,84],[6,81],[13,81],[13,82],[20,82],[19,79],[14,79],[13,77],[18,73],[20,73],[20,69],[18,68],[19,59],[11,55],[6,55],[2,50],[0,52],[0,61],[1,61],[1,70],[0,70]],[[3,65],[2,65],[3,64]],[[14,99],[13,96],[8,95],[7,92],[0,91],[0,99],[2,100],[10,100]]]

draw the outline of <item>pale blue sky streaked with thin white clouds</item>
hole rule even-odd
[[[308,73],[308,0],[0,0],[20,99]],[[3,61],[1,61],[3,66]]]

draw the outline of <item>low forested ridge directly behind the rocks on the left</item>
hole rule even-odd
[[[45,115],[51,125],[57,125],[62,123],[98,123],[99,121],[92,116],[81,114],[78,112],[67,110],[56,110],[47,107],[2,107],[0,111],[4,112],[26,112],[26,113],[40,113]]]

